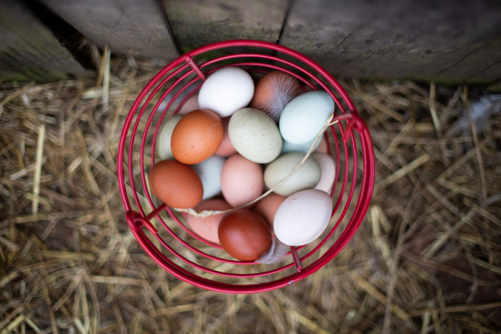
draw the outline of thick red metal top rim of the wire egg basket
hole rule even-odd
[[[166,256],[163,256],[161,251],[158,250],[156,246],[152,244],[152,242],[148,239],[148,237],[145,234],[145,231],[143,230],[142,227],[147,227],[147,229],[152,232],[155,235],[157,234],[157,231],[155,227],[151,223],[149,223],[148,220],[146,220],[144,217],[137,217],[137,215],[132,214],[133,211],[131,210],[131,205],[128,199],[128,192],[126,189],[126,184],[125,184],[125,178],[124,178],[124,152],[126,150],[125,144],[128,138],[128,132],[130,129],[130,125],[132,122],[132,119],[134,118],[134,115],[137,112],[138,106],[141,104],[143,101],[144,97],[146,94],[151,90],[151,88],[158,82],[158,80],[163,77],[166,73],[169,71],[178,68],[181,66],[183,63],[186,65],[190,65],[193,68],[193,57],[202,55],[206,52],[218,50],[218,49],[224,49],[224,48],[230,48],[230,47],[261,47],[269,50],[275,50],[278,52],[282,52],[284,54],[287,54],[297,60],[300,60],[304,62],[306,65],[310,66],[312,69],[314,69],[322,78],[327,80],[330,85],[335,89],[335,91],[341,96],[343,102],[346,104],[346,106],[349,109],[349,113],[347,114],[342,114],[346,119],[349,119],[349,122],[351,123],[351,126],[353,129],[357,130],[359,135],[360,135],[360,142],[362,144],[362,156],[363,156],[363,175],[362,175],[362,186],[360,190],[360,197],[363,196],[363,200],[361,201],[361,198],[359,198],[356,208],[354,210],[354,214],[350,218],[350,222],[354,222],[353,224],[348,223],[346,226],[345,230],[341,234],[341,236],[336,240],[333,246],[329,250],[327,250],[321,258],[318,260],[314,261],[314,263],[310,264],[307,268],[298,267],[297,272],[288,275],[286,277],[279,278],[277,280],[272,280],[269,282],[264,282],[264,283],[256,283],[256,284],[229,284],[229,283],[222,283],[219,281],[203,278],[201,276],[198,276],[178,264],[176,264],[174,261],[171,259],[167,258]],[[219,57],[221,58],[221,57]],[[211,61],[218,60],[219,58],[212,59]],[[194,64],[195,67],[195,72],[196,71],[196,64]],[[197,72],[198,74],[198,72]],[[202,74],[203,75],[203,74]],[[332,92],[330,92],[332,95]],[[349,125],[348,125],[349,126]],[[348,130],[347,126],[347,130]],[[133,131],[136,130],[136,127],[134,128]],[[351,128],[350,128],[351,130]],[[346,131],[346,134],[348,134],[349,131]],[[350,136],[344,136],[344,137],[350,137],[352,140],[354,132],[351,132]],[[131,146],[132,149],[132,146]],[[129,152],[130,154],[130,152]],[[359,225],[361,224],[363,217],[365,216],[370,199],[372,197],[372,191],[374,187],[374,152],[373,152],[373,147],[372,147],[372,140],[370,138],[370,134],[368,131],[367,126],[365,123],[360,119],[358,116],[358,112],[356,111],[356,108],[349,98],[348,94],[344,91],[344,89],[341,87],[341,85],[319,64],[311,60],[310,58],[300,54],[297,51],[294,51],[292,49],[289,49],[284,46],[276,45],[270,42],[265,42],[265,41],[257,41],[257,40],[229,40],[229,41],[224,41],[224,42],[216,42],[212,44],[208,44],[205,46],[202,46],[200,48],[194,49],[190,52],[187,52],[186,54],[178,57],[176,60],[172,61],[169,63],[167,66],[165,66],[157,75],[155,75],[150,82],[143,88],[141,93],[138,95],[136,98],[133,106],[131,107],[131,110],[127,116],[127,119],[125,121],[121,138],[120,138],[120,143],[119,143],[119,149],[118,149],[118,181],[119,181],[119,188],[120,188],[120,194],[122,196],[122,201],[124,203],[124,207],[127,211],[127,221],[129,223],[129,226],[131,227],[131,230],[133,232],[134,237],[136,240],[139,242],[141,247],[145,250],[145,252],[157,263],[159,264],[162,268],[164,268],[166,271],[171,273],[172,275],[176,276],[179,279],[182,279],[192,285],[213,290],[213,291],[218,291],[218,292],[227,292],[227,293],[254,293],[254,292],[262,292],[262,291],[269,291],[273,289],[277,289],[283,286],[286,286],[288,284],[291,284],[293,282],[299,281],[308,275],[314,273],[321,267],[323,267],[325,264],[330,262],[342,249],[343,247],[351,240],[352,236],[355,234],[356,230],[358,229]],[[137,196],[137,194],[134,194]],[[138,213],[139,214],[139,213]],[[139,214],[140,215],[140,214]],[[151,215],[151,214],[150,214]],[[148,215],[149,216],[149,215]],[[343,237],[344,236],[344,237]],[[338,244],[339,243],[339,244]]]

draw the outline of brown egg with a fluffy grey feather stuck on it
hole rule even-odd
[[[272,71],[263,76],[256,85],[251,108],[264,111],[278,122],[285,106],[300,93],[298,80],[293,76]]]

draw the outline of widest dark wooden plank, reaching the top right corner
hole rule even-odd
[[[499,17],[498,1],[296,0],[281,44],[336,76],[488,82],[501,72],[475,76],[501,55]]]

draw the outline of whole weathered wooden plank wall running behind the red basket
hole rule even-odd
[[[297,50],[337,77],[501,81],[499,0],[40,1],[116,54],[170,61],[208,43],[257,39]],[[23,4],[0,0],[0,78],[84,71]]]

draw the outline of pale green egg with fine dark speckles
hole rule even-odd
[[[260,164],[275,160],[282,149],[277,124],[258,109],[244,108],[234,113],[229,119],[228,137],[242,157]]]

